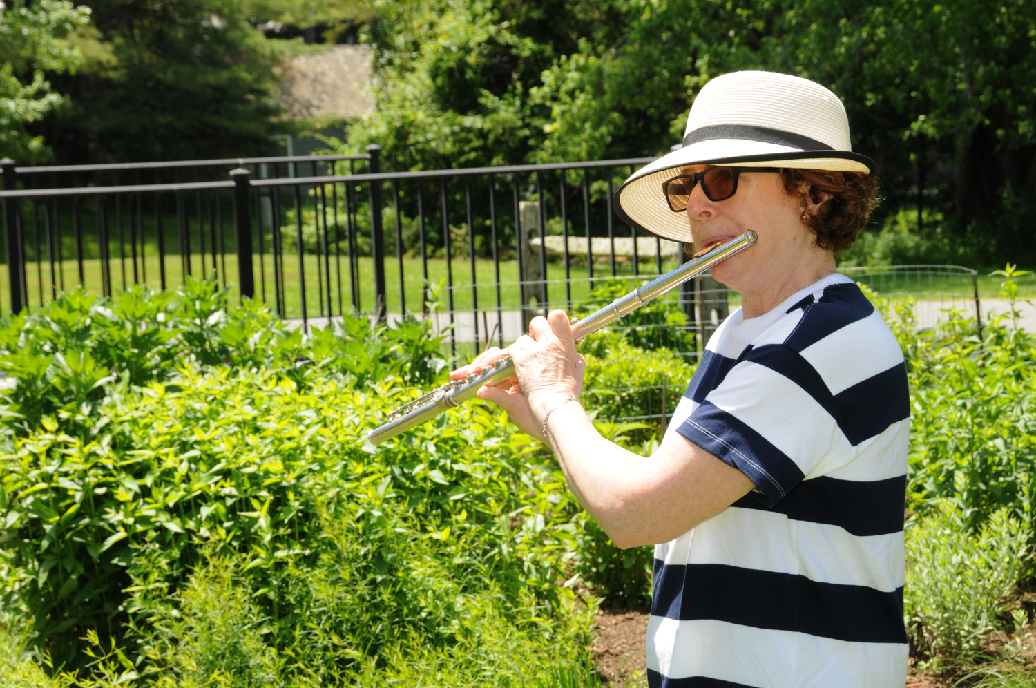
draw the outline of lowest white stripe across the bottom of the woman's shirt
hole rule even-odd
[[[720,621],[648,621],[648,667],[758,688],[902,688],[905,643],[846,642]]]

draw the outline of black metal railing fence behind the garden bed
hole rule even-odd
[[[79,285],[110,295],[214,275],[304,327],[350,310],[384,320],[437,303],[451,350],[466,352],[502,345],[537,312],[571,310],[602,280],[674,266],[682,251],[637,237],[612,211],[616,185],[652,159],[384,172],[379,152],[0,161],[3,300],[17,313]],[[228,174],[198,180],[213,170]],[[156,182],[161,174],[192,180]],[[695,297],[678,298],[694,319]]]

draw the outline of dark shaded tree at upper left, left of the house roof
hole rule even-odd
[[[239,0],[92,0],[105,55],[55,79],[70,107],[38,130],[75,162],[257,152],[279,130],[275,47]]]

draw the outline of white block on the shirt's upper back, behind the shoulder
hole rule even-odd
[[[851,322],[800,351],[831,394],[843,392],[903,362],[902,349],[882,315]],[[852,365],[846,365],[846,363]]]

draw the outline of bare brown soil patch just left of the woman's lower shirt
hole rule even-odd
[[[602,609],[591,652],[597,669],[611,688],[648,685],[648,613],[635,609]]]

